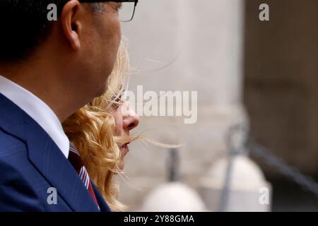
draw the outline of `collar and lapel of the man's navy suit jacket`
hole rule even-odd
[[[49,184],[57,189],[57,193],[72,210],[98,211],[78,174],[52,138],[36,121],[1,93],[0,127],[26,143],[30,162]]]

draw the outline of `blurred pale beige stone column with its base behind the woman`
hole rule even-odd
[[[130,88],[198,92],[198,120],[141,117],[136,131],[159,141],[183,143],[181,180],[195,188],[198,178],[225,154],[225,131],[245,120],[242,107],[242,0],[141,0],[131,23],[123,25],[132,65]],[[148,191],[165,182],[165,148],[131,144],[121,199],[138,208]]]

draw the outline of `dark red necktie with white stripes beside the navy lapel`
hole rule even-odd
[[[90,195],[92,196],[93,200],[95,201],[96,205],[98,206],[98,209],[100,209],[98,205],[97,198],[95,196],[95,192],[93,190],[92,182],[90,182],[90,177],[88,176],[88,172],[86,170],[86,167],[83,165],[83,162],[81,160],[81,157],[76,150],[76,148],[70,144],[69,147],[69,162],[71,162],[71,165],[73,165],[74,169],[78,173],[81,181],[83,182],[86,189],[89,191]]]

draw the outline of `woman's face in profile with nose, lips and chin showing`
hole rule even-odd
[[[124,113],[124,114],[123,114]],[[118,105],[112,107],[112,116],[116,124],[115,133],[116,136],[128,137],[129,131],[136,128],[139,124],[139,116],[129,107],[128,102],[120,102]],[[119,169],[124,169],[124,157],[129,152],[129,143],[125,143],[120,146],[122,154],[119,162]]]

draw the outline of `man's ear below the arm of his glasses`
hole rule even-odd
[[[81,48],[79,36],[81,34],[81,21],[78,20],[81,4],[77,0],[68,1],[61,11],[61,25],[66,39],[74,50]]]

